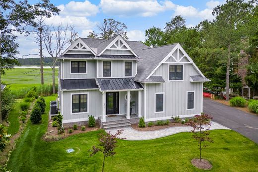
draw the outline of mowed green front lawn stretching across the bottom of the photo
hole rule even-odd
[[[47,108],[55,97],[46,97]],[[11,153],[7,169],[12,172],[100,172],[103,155],[90,157],[89,149],[98,144],[103,130],[70,136],[66,139],[45,142],[41,139],[48,124],[47,113],[41,124],[28,122],[16,149]],[[199,151],[191,133],[179,133],[145,141],[119,140],[117,154],[107,158],[105,172],[196,172],[191,159]],[[213,130],[214,143],[203,150],[212,172],[257,172],[258,145],[232,130]],[[66,149],[75,152],[68,154]]]

